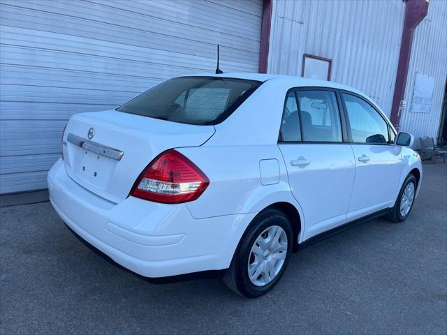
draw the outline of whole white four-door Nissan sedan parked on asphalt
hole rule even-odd
[[[341,84],[176,77],[73,115],[48,188],[66,225],[131,271],[226,270],[230,289],[258,297],[305,241],[409,216],[423,172],[412,142]]]

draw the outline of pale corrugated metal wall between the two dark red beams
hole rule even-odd
[[[332,59],[334,82],[390,115],[404,24],[402,0],[274,1],[269,73],[301,75],[302,54]]]

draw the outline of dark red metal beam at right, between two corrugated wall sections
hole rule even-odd
[[[399,64],[397,66],[396,84],[394,87],[393,106],[391,107],[390,120],[399,129],[400,102],[404,100],[406,78],[410,65],[411,47],[413,45],[414,29],[420,24],[428,13],[427,0],[407,0],[405,8],[404,31],[400,43]]]

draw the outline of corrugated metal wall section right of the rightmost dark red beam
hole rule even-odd
[[[411,112],[416,73],[434,77],[432,108],[430,113]],[[402,112],[400,130],[415,137],[416,149],[420,147],[419,137],[437,137],[441,119],[444,89],[447,77],[447,1],[432,0],[428,15],[416,27],[411,51],[408,79]]]

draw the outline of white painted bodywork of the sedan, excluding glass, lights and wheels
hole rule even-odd
[[[420,189],[420,157],[408,147],[278,143],[289,89],[346,90],[367,99],[383,115],[365,94],[342,84],[299,77],[224,76],[263,84],[228,119],[214,126],[113,110],[73,116],[63,138],[65,161],[59,159],[48,174],[50,200],[57,214],[120,265],[143,276],[159,277],[228,268],[249,224],[272,204],[285,202],[297,209],[300,222],[295,224],[300,227],[301,243],[372,211],[393,207],[413,169],[420,173]],[[123,151],[122,157],[91,154],[68,142],[68,134],[88,139],[90,128],[94,128],[91,141]],[[203,194],[180,204],[129,195],[142,170],[168,149],[179,151],[207,176],[210,184]],[[368,163],[358,161],[363,154],[369,155]],[[291,164],[300,157],[309,164],[302,168]],[[98,175],[86,177],[84,167]]]

